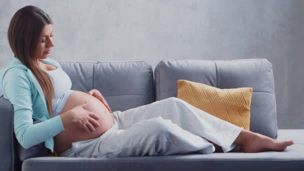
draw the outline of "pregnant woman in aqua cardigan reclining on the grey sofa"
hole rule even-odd
[[[48,57],[52,32],[49,16],[31,5],[16,11],[8,28],[14,56],[1,86],[24,148],[44,141],[58,156],[112,157],[283,151],[293,144],[245,130],[175,97],[111,112],[98,90],[70,89],[69,76]],[[33,124],[33,119],[42,121]]]

